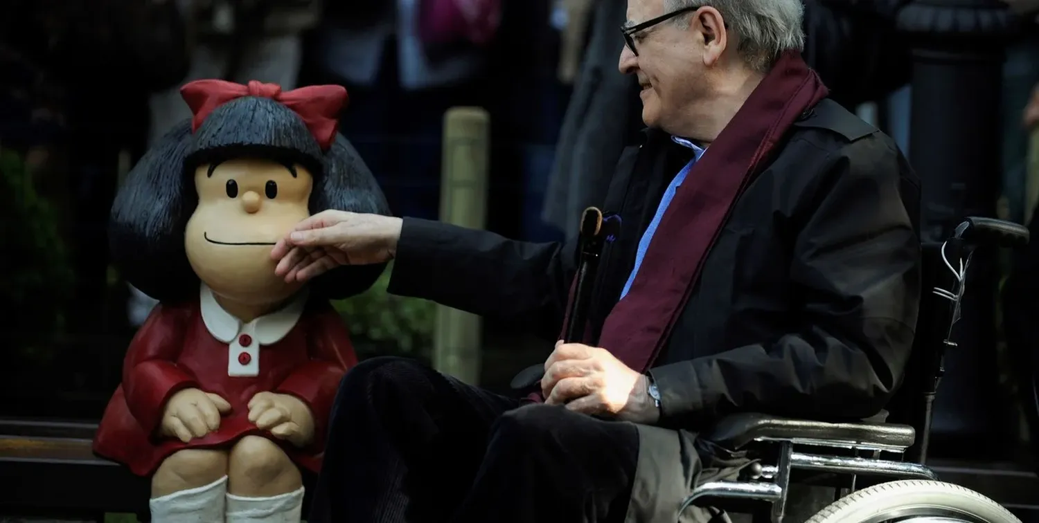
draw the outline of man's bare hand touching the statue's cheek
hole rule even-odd
[[[296,224],[270,252],[274,274],[307,281],[344,265],[389,262],[402,220],[392,216],[324,211]]]

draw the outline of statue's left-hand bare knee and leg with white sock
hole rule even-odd
[[[174,452],[152,476],[152,523],[221,523],[227,492],[227,452]]]

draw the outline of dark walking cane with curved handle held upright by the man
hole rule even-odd
[[[604,227],[603,212],[596,208],[585,209],[581,215],[581,229],[578,232],[578,272],[574,285],[574,299],[566,314],[563,326],[563,342],[580,342],[584,339],[584,331],[588,323],[588,305],[595,286],[595,274],[598,272],[600,258],[603,255]],[[523,369],[512,379],[512,389],[529,391],[533,389],[544,375],[542,365],[534,365]]]

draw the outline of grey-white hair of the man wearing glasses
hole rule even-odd
[[[739,37],[740,56],[755,71],[768,71],[784,51],[804,50],[801,0],[664,0],[665,11],[702,6],[721,12]],[[688,28],[689,17],[675,23]]]

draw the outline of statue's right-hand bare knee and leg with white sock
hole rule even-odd
[[[246,436],[228,463],[228,523],[299,523],[303,480],[274,442]]]

